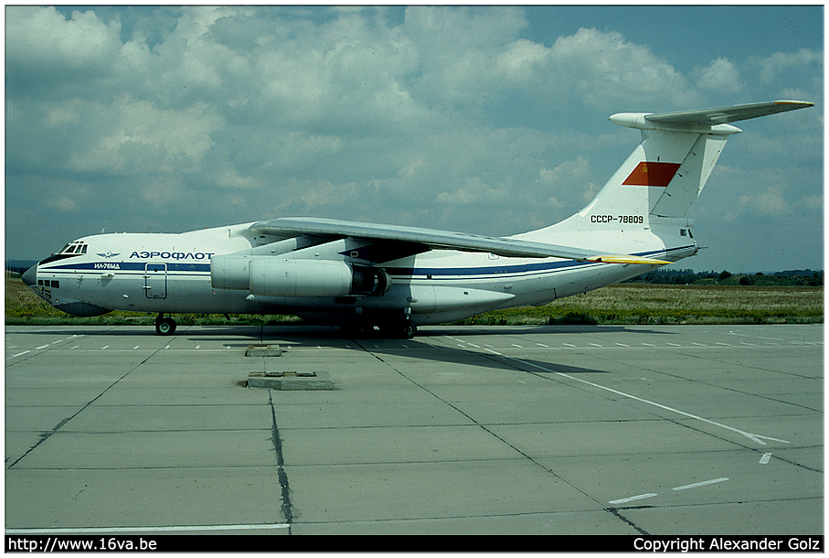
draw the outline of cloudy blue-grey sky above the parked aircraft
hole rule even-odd
[[[286,216],[516,234],[630,155],[613,113],[793,99],[739,123],[671,267],[824,267],[823,5],[6,5],[5,93],[7,259]]]

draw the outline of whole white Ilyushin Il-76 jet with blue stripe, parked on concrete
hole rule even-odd
[[[284,217],[99,234],[69,242],[23,281],[75,316],[157,313],[160,335],[175,332],[169,314],[293,314],[410,338],[421,325],[543,305],[695,254],[688,209],[740,132],[730,123],[809,106],[614,114],[612,123],[641,130],[642,143],[587,207],[538,231],[488,237]]]

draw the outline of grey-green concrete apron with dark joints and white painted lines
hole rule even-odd
[[[823,330],[6,327],[6,534],[823,534]]]

